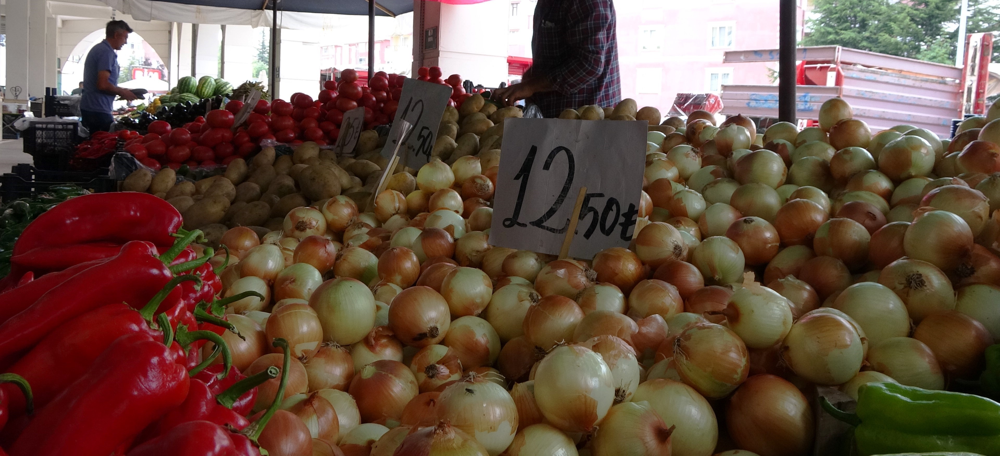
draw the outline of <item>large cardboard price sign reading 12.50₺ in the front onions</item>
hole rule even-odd
[[[581,187],[569,255],[632,239],[642,193],[644,121],[507,119],[490,243],[558,254]]]

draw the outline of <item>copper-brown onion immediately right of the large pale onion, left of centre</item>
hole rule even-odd
[[[413,347],[440,342],[450,323],[448,302],[428,286],[406,288],[389,304],[389,328]]]

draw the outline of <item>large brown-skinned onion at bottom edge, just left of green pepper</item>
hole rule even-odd
[[[747,378],[729,399],[726,424],[733,441],[755,453],[806,454],[813,447],[809,401],[777,375]]]

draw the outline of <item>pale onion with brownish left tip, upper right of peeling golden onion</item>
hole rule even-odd
[[[722,311],[729,328],[749,348],[767,348],[792,327],[792,303],[777,291],[750,282],[736,289]]]

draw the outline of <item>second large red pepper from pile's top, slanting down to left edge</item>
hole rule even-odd
[[[117,256],[67,279],[0,324],[0,359],[9,359],[56,326],[102,305],[125,302],[142,308],[172,276],[155,245],[128,242]]]

